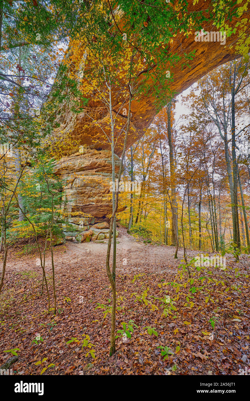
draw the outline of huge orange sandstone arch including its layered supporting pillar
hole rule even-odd
[[[193,0],[188,0],[188,3],[190,12],[197,12],[206,10],[211,0],[199,0],[195,5]],[[236,24],[235,20],[227,22],[229,26]],[[208,20],[202,28],[207,32],[216,30],[212,20]],[[163,65],[163,71],[169,70],[171,75],[173,74],[173,82],[170,84],[172,93],[174,95],[181,93],[215,67],[237,58],[234,50],[236,41],[237,37],[232,35],[226,38],[225,45],[220,41],[198,42],[195,41],[195,30],[191,30],[188,35],[184,35],[183,32],[177,33],[167,49],[159,50],[167,55],[172,53],[179,56],[195,51],[195,56],[188,63],[182,57],[173,66]],[[84,53],[85,49],[79,42],[77,57],[83,57]],[[71,68],[74,68],[74,63]],[[145,70],[142,69],[140,72],[142,77],[147,68],[145,62]],[[152,82],[150,79],[149,83]],[[120,112],[117,115],[119,107],[118,101],[117,103],[114,101],[113,114],[117,118],[116,126],[125,126],[127,117]],[[124,107],[127,107],[126,103]],[[139,101],[132,101],[131,111],[131,130],[128,133],[127,149],[142,137],[158,112],[150,91],[147,96],[142,95]],[[98,126],[92,122],[93,119],[98,121]],[[112,202],[106,197],[109,193],[109,182],[112,180],[110,144],[103,132],[107,131],[109,126],[108,110],[100,102],[89,97],[87,107],[79,114],[73,113],[66,103],[63,104],[58,111],[57,122],[60,127],[55,130],[55,136],[57,133],[64,132],[64,135],[75,139],[80,145],[89,146],[92,149],[80,153],[72,147],[67,149],[67,154],[72,152],[71,156],[64,157],[57,163],[56,174],[67,181],[65,196],[69,201],[69,209],[89,213],[96,219],[95,222],[107,221],[107,215],[112,211]],[[116,138],[119,133],[120,130],[115,128]],[[115,148],[118,156],[122,154],[122,148],[123,138],[120,135]],[[116,156],[116,172],[119,168],[118,156]]]

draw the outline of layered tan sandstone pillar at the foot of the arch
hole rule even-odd
[[[116,174],[120,168],[120,159],[115,158]],[[71,227],[63,227],[65,235],[75,236],[79,231],[89,229],[89,222],[96,223],[108,219],[112,213],[110,200],[110,181],[112,181],[111,152],[108,150],[90,150],[64,157],[55,164],[55,174],[64,182],[67,210],[83,211],[94,219],[83,221],[80,217],[71,217]],[[70,225],[69,225],[70,226]]]

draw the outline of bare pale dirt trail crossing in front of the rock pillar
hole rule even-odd
[[[150,272],[173,271],[178,266],[183,258],[183,249],[179,248],[178,259],[174,259],[175,247],[157,246],[148,243],[136,241],[136,239],[126,232],[123,227],[118,228],[119,237],[117,248],[117,271],[124,273],[128,270],[140,271],[140,264],[144,268],[150,269]],[[84,262],[104,266],[106,261],[108,243],[73,243],[67,241],[65,245],[54,248],[55,269],[60,269],[62,266],[70,268],[72,263]],[[188,258],[197,255],[197,251],[187,251]],[[110,258],[112,262],[112,258]],[[13,255],[9,258],[6,268],[10,270],[26,270],[39,268],[40,259],[28,255],[22,258],[14,258]],[[46,257],[46,269],[51,269],[51,257],[49,252]]]

